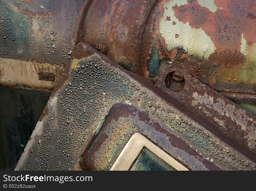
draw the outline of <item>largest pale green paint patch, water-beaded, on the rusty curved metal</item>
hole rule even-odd
[[[163,7],[163,17],[159,19],[159,32],[162,33],[162,37],[166,40],[167,49],[171,51],[177,48],[184,48],[190,55],[195,55],[198,58],[204,56],[208,59],[211,53],[214,53],[216,47],[209,36],[201,28],[191,28],[189,23],[185,24],[179,22],[174,16],[173,6],[187,4],[186,0],[170,0]],[[172,22],[166,21],[166,16],[171,18],[171,21],[175,21],[176,25]],[[175,38],[175,34],[178,34],[178,38]]]

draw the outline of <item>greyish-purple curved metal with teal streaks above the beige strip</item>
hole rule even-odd
[[[83,0],[0,0],[0,56],[67,63]]]

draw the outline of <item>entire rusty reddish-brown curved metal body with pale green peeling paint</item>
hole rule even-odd
[[[100,1],[88,1],[77,43],[104,43],[109,57],[153,82],[159,78],[161,59],[172,58],[174,65],[217,91],[256,93],[255,3],[139,2],[100,6]]]

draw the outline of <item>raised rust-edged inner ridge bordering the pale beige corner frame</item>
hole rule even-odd
[[[81,166],[84,170],[109,170],[125,144],[136,132],[147,137],[192,170],[222,169],[200,155],[195,148],[191,148],[170,127],[154,121],[147,113],[125,103],[113,106],[100,132],[82,154]]]

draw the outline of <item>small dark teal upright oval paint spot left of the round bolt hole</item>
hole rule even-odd
[[[146,61],[147,71],[149,72],[149,77],[154,78],[157,76],[157,72],[160,67],[160,58],[158,54],[158,49],[155,45],[151,47],[151,53],[149,54],[150,59]]]

